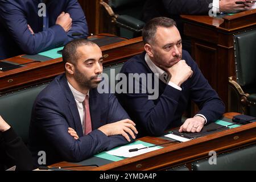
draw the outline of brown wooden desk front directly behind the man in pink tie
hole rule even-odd
[[[93,37],[99,39],[102,38],[102,36]],[[126,61],[130,57],[142,53],[144,51],[143,45],[142,38],[139,37],[109,44],[107,46],[101,46],[102,55],[104,56],[103,65],[107,66]],[[21,56],[23,55],[5,60],[18,64],[29,63],[32,61]],[[22,68],[12,69],[6,72],[0,71],[0,94],[38,82],[52,80],[53,77],[60,75],[61,73],[64,73],[62,58],[39,63],[30,63],[24,65]]]

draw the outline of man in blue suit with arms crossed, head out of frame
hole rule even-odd
[[[0,25],[0,60],[22,53],[35,55],[88,36],[77,0],[1,0]]]

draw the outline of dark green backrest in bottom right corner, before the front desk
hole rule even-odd
[[[208,159],[192,163],[195,171],[254,171],[256,170],[256,145],[240,148],[217,156],[217,164],[209,164]]]

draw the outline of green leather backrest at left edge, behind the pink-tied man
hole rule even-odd
[[[38,94],[48,85],[40,84],[0,96],[0,115],[15,132],[28,142],[32,106]]]

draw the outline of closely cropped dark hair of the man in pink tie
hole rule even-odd
[[[77,54],[77,48],[80,46],[95,46],[96,43],[87,40],[87,39],[75,39],[71,42],[67,43],[62,51],[63,62],[71,63],[76,65],[77,60],[79,59],[79,55]]]

